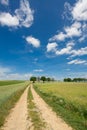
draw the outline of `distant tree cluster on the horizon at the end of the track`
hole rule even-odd
[[[35,83],[35,81],[38,81],[38,82],[43,81],[43,83],[44,83],[45,81],[48,81],[48,82],[55,81],[55,79],[54,78],[50,78],[50,77],[45,77],[45,76],[41,76],[41,77],[34,77],[34,76],[32,76],[30,78],[30,81],[32,81],[33,83]]]

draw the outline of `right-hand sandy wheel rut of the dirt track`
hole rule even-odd
[[[34,97],[34,103],[40,110],[42,118],[47,123],[48,128],[46,130],[72,130],[60,117],[57,117],[56,113],[44,102],[44,100],[35,92],[31,86],[31,91]]]

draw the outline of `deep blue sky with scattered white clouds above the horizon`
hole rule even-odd
[[[87,78],[87,0],[0,0],[0,80]]]

